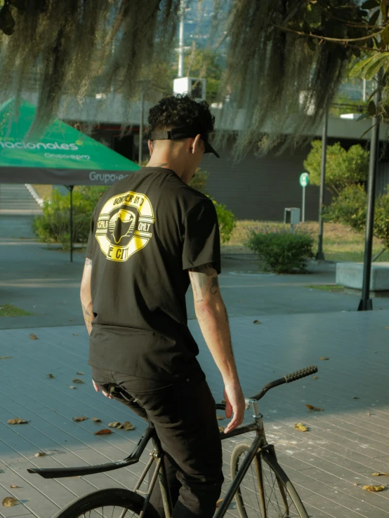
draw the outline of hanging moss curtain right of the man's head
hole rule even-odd
[[[334,19],[334,11],[329,11],[334,4],[355,8],[357,2],[239,0],[231,3],[228,65],[222,90],[222,97],[228,102],[220,126],[239,130],[234,148],[236,157],[248,150],[261,153],[274,145],[296,144],[321,123],[354,50],[302,36],[301,32],[307,35],[315,33],[315,29],[317,34],[332,32],[338,39],[355,33],[354,27]],[[358,13],[360,8],[355,15]],[[347,14],[350,17],[350,10]],[[312,20],[312,15],[316,20]],[[220,144],[226,136],[218,133]]]

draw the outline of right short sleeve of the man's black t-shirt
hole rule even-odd
[[[194,206],[184,220],[183,270],[212,263],[220,273],[218,215],[211,200]]]

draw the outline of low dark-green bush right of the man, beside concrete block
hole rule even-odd
[[[314,257],[313,237],[307,232],[286,228],[265,228],[262,232],[251,230],[244,246],[258,254],[272,272],[293,273],[303,271],[309,258]]]

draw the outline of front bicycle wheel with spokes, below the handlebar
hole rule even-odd
[[[239,469],[239,463],[242,460],[242,456],[244,456],[244,454],[250,449],[250,447],[251,444],[240,443],[237,444],[237,446],[235,446],[234,451],[232,451],[232,480],[235,479],[235,476]],[[267,471],[264,469],[263,463],[265,463]],[[242,483],[240,484],[237,492],[235,493],[235,502],[237,503],[237,510],[241,518],[251,518],[254,516],[263,518],[263,512],[261,511],[261,505],[263,505],[261,504],[261,493],[263,495],[263,502],[265,503],[267,518],[308,518],[308,513],[306,512],[305,507],[301,502],[301,498],[298,496],[298,493],[291,481],[289,480],[289,477],[286,475],[282,467],[279,465],[274,455],[269,453],[267,450],[261,451],[262,474],[260,474],[260,476],[263,478],[263,481],[266,479],[266,482],[263,482],[263,492],[261,491],[260,484],[258,484],[256,474],[250,474],[250,470],[253,469],[252,466],[253,463],[249,467],[249,470],[246,472],[244,479],[242,480]],[[249,477],[247,481],[246,477]],[[272,487],[270,486],[270,480],[272,480],[273,482]],[[275,482],[277,482],[278,493],[275,486]],[[244,486],[244,484],[248,484],[249,487]],[[258,486],[258,496],[256,496],[255,503],[258,503],[258,508],[254,507],[255,504],[253,504],[253,493],[256,491],[255,486]],[[269,489],[266,489],[267,487],[269,487]],[[283,491],[281,487],[284,489],[284,496],[282,496]],[[268,497],[266,496],[266,491],[268,491]],[[244,502],[245,498],[246,503]],[[266,498],[268,498],[268,500],[266,500]],[[287,505],[285,503],[285,498],[287,500]],[[282,500],[283,504],[281,506],[279,505],[280,500]],[[258,512],[260,514],[258,514]]]

